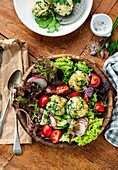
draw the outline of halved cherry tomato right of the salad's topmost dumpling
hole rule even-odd
[[[92,74],[90,87],[97,87],[100,84],[100,78],[96,74]]]

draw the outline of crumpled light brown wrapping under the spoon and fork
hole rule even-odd
[[[0,40],[0,46],[2,46],[2,48],[4,49],[0,71],[1,80],[0,91],[2,94],[1,115],[2,115],[9,97],[7,83],[10,76],[16,70],[21,70],[22,73],[24,74],[24,72],[28,69],[29,64],[25,41],[20,39]],[[19,122],[18,131],[21,144],[32,143],[31,137],[24,131]],[[3,134],[2,138],[0,139],[0,144],[13,144],[14,136],[15,136],[15,110],[9,103],[4,121]]]

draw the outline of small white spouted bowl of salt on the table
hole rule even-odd
[[[109,37],[112,31],[112,20],[106,14],[94,14],[91,19],[90,27],[97,36]]]

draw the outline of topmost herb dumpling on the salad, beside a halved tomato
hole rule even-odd
[[[81,71],[76,71],[69,79],[69,87],[75,91],[83,92],[89,85],[89,76]]]

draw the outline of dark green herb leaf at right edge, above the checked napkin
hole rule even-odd
[[[109,55],[113,55],[116,50],[118,50],[118,38],[115,42],[110,43],[108,48]]]

